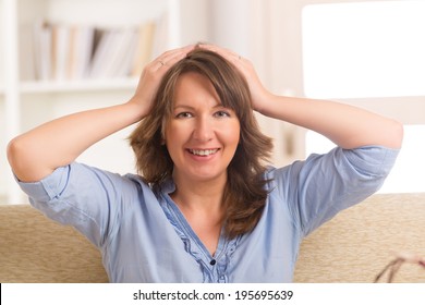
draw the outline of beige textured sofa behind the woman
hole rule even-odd
[[[425,256],[425,194],[374,195],[302,244],[295,282],[373,282],[403,252]],[[107,282],[97,249],[28,205],[0,206],[0,282]],[[425,282],[404,264],[396,282]]]

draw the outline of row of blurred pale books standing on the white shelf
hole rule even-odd
[[[34,58],[38,81],[138,77],[151,60],[157,21],[99,28],[38,22]]]

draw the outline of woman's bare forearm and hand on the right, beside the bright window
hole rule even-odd
[[[365,145],[401,147],[403,127],[392,119],[344,103],[274,95],[262,85],[248,60],[217,46],[199,47],[218,52],[242,72],[250,85],[254,109],[267,117],[318,132],[347,149]]]

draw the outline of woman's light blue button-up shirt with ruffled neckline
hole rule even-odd
[[[247,234],[221,234],[214,256],[169,196],[139,176],[77,162],[22,183],[34,207],[81,231],[101,252],[111,282],[291,282],[302,239],[382,184],[397,149],[335,148],[269,168],[263,216]],[[52,232],[54,234],[54,232]]]

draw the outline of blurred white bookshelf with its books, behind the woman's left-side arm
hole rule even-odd
[[[0,204],[19,204],[26,198],[10,171],[7,143],[57,117],[127,100],[144,63],[180,45],[180,0],[0,0]],[[93,34],[84,38],[89,54],[80,51],[87,60],[75,51],[83,30]],[[98,72],[87,72],[108,35],[114,36],[109,53],[98,59]],[[84,72],[75,73],[82,62]],[[129,133],[96,144],[78,161],[134,171]]]

